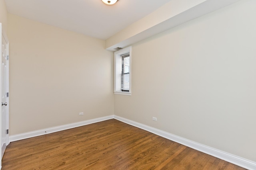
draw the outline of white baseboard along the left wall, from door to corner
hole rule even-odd
[[[30,138],[30,137],[36,137],[36,136],[40,136],[40,135],[45,135],[45,134],[49,134],[49,133],[54,133],[54,132],[58,132],[58,131],[72,129],[72,128],[75,128],[75,127],[89,125],[89,124],[92,124],[92,123],[97,123],[97,122],[100,122],[100,121],[105,121],[105,120],[109,120],[109,119],[113,119],[113,118],[114,118],[114,115],[110,115],[110,116],[106,116],[106,117],[100,117],[100,118],[96,118],[96,119],[80,121],[80,122],[77,122],[77,123],[71,123],[71,124],[62,125],[62,126],[56,126],[56,127],[51,127],[51,128],[47,128],[47,129],[41,129],[41,130],[38,130],[38,131],[21,133],[21,134],[18,134],[18,135],[11,135],[9,137],[9,141],[10,142],[19,141],[19,140],[27,139],[27,138]]]

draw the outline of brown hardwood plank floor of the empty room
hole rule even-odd
[[[115,119],[8,145],[2,170],[244,170]]]

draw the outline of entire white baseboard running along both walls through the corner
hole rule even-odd
[[[225,161],[230,162],[232,164],[241,166],[241,167],[246,168],[248,170],[256,170],[256,162],[253,162],[251,160],[247,160],[247,159],[241,158],[239,156],[229,154],[227,152],[223,152],[221,150],[214,149],[214,148],[202,145],[200,143],[196,143],[196,142],[190,141],[188,139],[178,137],[176,135],[172,135],[172,134],[167,133],[165,131],[161,131],[159,129],[156,129],[156,128],[153,128],[153,127],[150,127],[150,126],[147,126],[147,125],[143,125],[141,123],[131,121],[129,119],[125,119],[123,117],[119,117],[119,116],[116,116],[116,115],[110,115],[110,116],[106,116],[106,117],[90,119],[90,120],[87,120],[87,121],[71,123],[71,124],[68,124],[68,125],[62,125],[62,126],[52,127],[52,128],[48,128],[48,129],[32,131],[32,132],[28,132],[28,133],[21,133],[21,134],[18,134],[18,135],[11,135],[9,137],[9,141],[10,142],[19,141],[19,140],[27,139],[27,138],[30,138],[30,137],[36,137],[36,136],[40,136],[40,135],[45,135],[45,134],[49,134],[49,133],[63,131],[63,130],[66,130],[66,129],[72,129],[74,127],[89,125],[89,124],[92,124],[92,123],[97,123],[97,122],[105,121],[105,120],[109,120],[109,119],[116,119],[116,120],[122,121],[124,123],[127,123],[129,125],[138,127],[140,129],[144,129],[144,130],[149,131],[151,133],[154,133],[158,136],[161,136],[161,137],[164,137],[164,138],[169,139],[171,141],[180,143],[180,144],[185,145],[187,147],[199,150],[200,152],[204,152],[206,154],[212,155],[216,158],[220,158],[222,160],[225,160]]]

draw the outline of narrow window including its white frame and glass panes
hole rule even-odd
[[[131,95],[132,47],[114,53],[114,94]]]

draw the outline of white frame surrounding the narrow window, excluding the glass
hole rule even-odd
[[[122,57],[121,55],[130,53],[130,74],[129,74],[129,92],[121,90],[122,81]],[[132,95],[132,47],[121,49],[114,53],[114,94]]]

